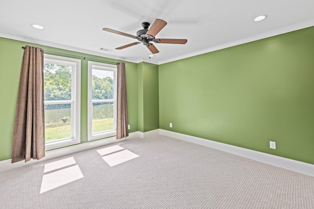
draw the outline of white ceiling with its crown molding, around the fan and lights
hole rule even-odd
[[[0,0],[0,5],[1,37],[156,64],[314,25],[314,0]],[[268,18],[253,21],[263,14]],[[136,40],[102,30],[136,35],[142,22],[155,19],[168,23],[157,38],[187,43],[155,44],[160,52],[148,60],[146,46],[117,50]],[[45,29],[34,29],[31,23]]]

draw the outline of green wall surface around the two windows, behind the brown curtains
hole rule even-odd
[[[109,58],[0,37],[0,161],[11,159],[16,99],[24,53],[22,46],[26,45],[39,46],[44,50],[118,62],[118,60]],[[128,119],[131,126],[129,132],[131,133],[138,131],[137,64],[125,63]],[[84,142],[87,142],[87,60],[81,59],[81,143]]]

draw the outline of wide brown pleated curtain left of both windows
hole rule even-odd
[[[12,163],[45,157],[44,51],[26,46],[16,105]]]

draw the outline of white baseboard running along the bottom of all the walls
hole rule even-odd
[[[132,132],[129,134],[129,137],[126,139],[132,139],[132,138],[137,138],[137,137],[142,138],[142,139],[146,139],[149,137],[158,136],[159,134],[167,136],[167,137],[181,139],[184,141],[188,141],[188,142],[200,144],[203,146],[211,147],[211,148],[218,149],[218,150],[221,150],[224,152],[232,153],[232,154],[242,156],[245,158],[249,158],[249,159],[252,159],[255,161],[259,161],[262,163],[275,165],[277,167],[282,167],[282,168],[292,170],[295,172],[299,172],[302,174],[306,174],[309,176],[314,176],[314,164],[295,161],[295,160],[291,160],[288,158],[270,155],[267,153],[262,153],[262,152],[258,152],[258,151],[254,151],[254,150],[250,150],[250,149],[245,149],[245,148],[233,146],[230,144],[220,143],[220,142],[212,141],[209,139],[202,139],[202,138],[198,138],[198,137],[193,137],[193,136],[180,134],[180,133],[176,133],[176,132],[172,132],[172,131],[167,131],[167,130],[163,130],[163,129],[156,129],[156,130],[148,131],[148,132],[144,132],[144,133],[139,132],[139,131]],[[119,139],[119,140],[126,140],[126,139]],[[107,138],[107,139],[102,139],[102,140],[90,141],[90,142],[77,144],[77,145],[73,145],[73,146],[69,146],[69,147],[64,147],[64,148],[60,148],[60,149],[50,150],[50,151],[46,152],[45,158],[43,158],[41,160],[30,160],[27,163],[25,163],[24,161],[20,161],[17,163],[11,163],[11,159],[0,161],[0,172],[5,171],[5,170],[9,170],[9,169],[13,169],[13,168],[17,168],[17,167],[22,167],[22,166],[25,166],[28,164],[37,163],[37,162],[41,162],[41,161],[45,161],[45,160],[50,160],[50,159],[61,157],[64,155],[69,155],[72,153],[92,149],[95,147],[104,146],[106,144],[115,143],[119,140],[115,139],[115,137],[112,137],[112,138]]]

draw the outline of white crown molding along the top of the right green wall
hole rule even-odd
[[[209,52],[212,52],[212,51],[217,51],[217,50],[220,50],[220,49],[223,49],[223,48],[228,48],[228,47],[231,47],[231,46],[237,46],[237,45],[241,45],[241,44],[257,41],[257,40],[260,40],[260,39],[269,38],[269,37],[272,37],[272,36],[277,36],[277,35],[280,35],[280,34],[288,33],[288,32],[295,31],[295,30],[300,30],[300,29],[303,29],[303,28],[311,27],[311,26],[314,26],[314,20],[307,21],[307,22],[304,22],[304,23],[294,24],[294,25],[291,25],[291,26],[288,26],[288,27],[283,27],[283,28],[280,28],[280,29],[277,29],[277,30],[273,30],[273,31],[267,32],[267,33],[262,33],[262,34],[257,35],[257,36],[251,36],[251,37],[248,37],[248,38],[245,38],[245,39],[241,39],[241,40],[238,40],[238,41],[235,41],[235,42],[230,42],[230,43],[223,44],[223,45],[220,45],[220,46],[214,46],[214,47],[211,47],[211,48],[208,48],[208,49],[205,49],[205,50],[196,51],[196,52],[193,52],[193,53],[190,53],[190,54],[185,54],[183,56],[175,57],[175,58],[172,58],[172,59],[162,60],[162,61],[158,62],[158,65],[169,63],[169,62],[173,62],[173,61],[177,61],[177,60],[182,60],[182,59],[185,59],[185,58],[197,56],[197,55],[200,55],[200,54],[209,53]]]

